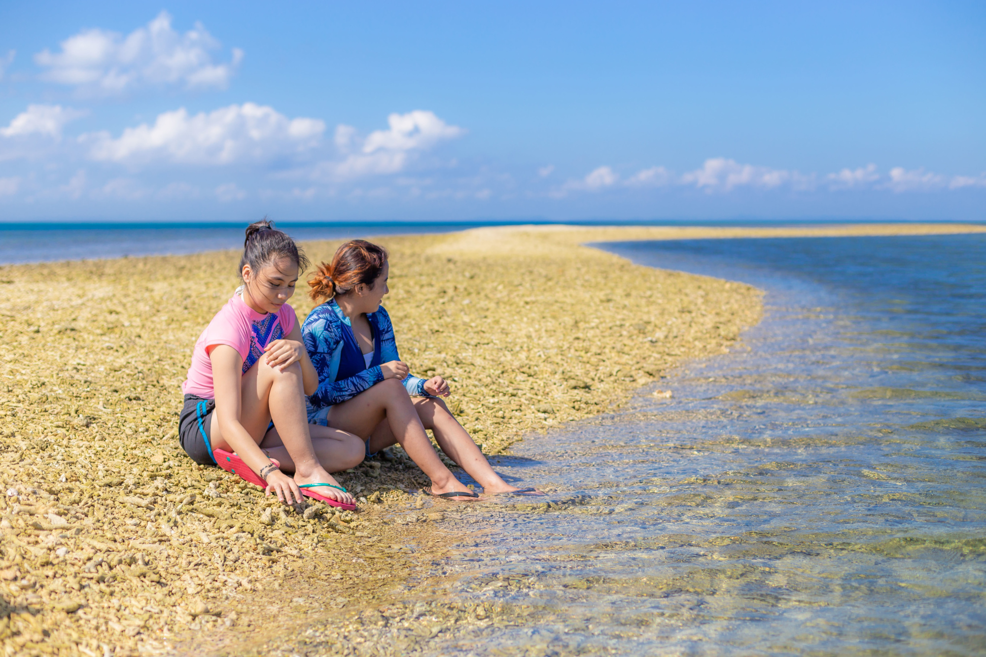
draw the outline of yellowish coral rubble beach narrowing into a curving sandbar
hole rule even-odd
[[[379,242],[391,254],[385,305],[403,359],[416,374],[451,380],[459,421],[497,454],[620,404],[682,360],[721,353],[760,317],[761,295],[748,285],[582,244],[984,231],[550,226]],[[314,261],[336,246],[305,244]],[[432,604],[422,564],[454,540],[442,532],[454,503],[415,504],[426,480],[399,449],[339,474],[361,498],[356,513],[339,514],[285,509],[178,447],[191,347],[238,284],[238,260],[219,252],[0,267],[7,655],[269,653],[325,618],[336,636],[387,622],[432,632],[417,631],[407,601]],[[312,308],[305,287],[292,299],[299,319]],[[394,522],[408,506],[414,522]],[[443,609],[448,622],[512,614]],[[393,650],[421,648],[392,636],[404,641]]]

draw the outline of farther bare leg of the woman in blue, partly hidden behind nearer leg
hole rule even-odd
[[[469,437],[468,432],[458,423],[449,407],[437,398],[414,398],[414,407],[426,429],[431,429],[435,440],[446,456],[458,463],[462,470],[479,482],[483,492],[499,493],[518,490],[496,474],[486,457]],[[370,438],[370,451],[377,452],[393,445],[397,440],[390,433],[386,422],[378,425]]]

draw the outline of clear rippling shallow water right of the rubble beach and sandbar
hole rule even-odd
[[[498,458],[552,503],[457,507],[433,574],[524,621],[429,651],[986,652],[986,238],[602,248],[756,285],[766,316],[673,399]]]

